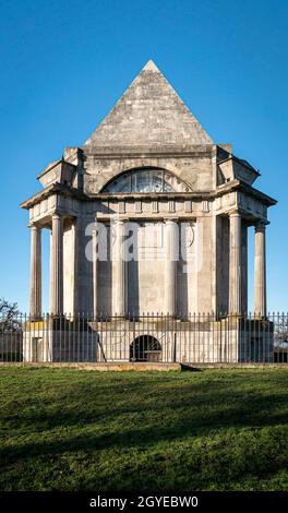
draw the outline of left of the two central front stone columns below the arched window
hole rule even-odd
[[[115,286],[115,314],[124,317],[125,315],[125,255],[123,251],[124,240],[124,222],[118,219],[116,222],[116,281]]]

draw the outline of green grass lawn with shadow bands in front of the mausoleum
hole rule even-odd
[[[0,369],[1,490],[288,490],[288,369]]]

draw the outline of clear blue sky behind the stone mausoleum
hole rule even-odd
[[[0,297],[28,308],[29,234],[19,204],[81,145],[148,59],[216,142],[278,200],[267,229],[268,307],[287,310],[288,3],[283,0],[2,0]],[[250,236],[250,253],[253,250]],[[44,308],[48,237],[44,237]],[[250,258],[250,306],[253,260]]]

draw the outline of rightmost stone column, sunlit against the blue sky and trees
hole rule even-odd
[[[255,226],[255,276],[254,276],[254,311],[256,315],[266,315],[266,226]]]

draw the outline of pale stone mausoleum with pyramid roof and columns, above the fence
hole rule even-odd
[[[149,61],[87,142],[65,148],[39,175],[44,189],[22,204],[32,230],[32,317],[41,311],[43,228],[51,231],[55,315],[241,315],[250,226],[256,232],[255,312],[265,317],[265,226],[276,202],[253,187],[257,177],[231,145],[212,141]],[[105,243],[113,243],[116,256],[133,227],[136,258],[97,258],[95,222],[107,227]],[[147,243],[148,232],[155,234]]]

